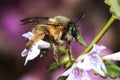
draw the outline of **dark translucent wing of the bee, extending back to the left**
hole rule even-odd
[[[37,25],[37,24],[47,24],[48,17],[30,17],[22,19],[21,22],[23,25],[30,24],[30,25]]]

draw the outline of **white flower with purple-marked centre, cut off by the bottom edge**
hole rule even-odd
[[[65,71],[61,76],[68,76],[66,80],[91,80],[88,73],[80,68],[79,63],[74,63],[72,67]]]

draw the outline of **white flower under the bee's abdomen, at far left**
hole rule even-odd
[[[28,39],[31,39],[31,37],[33,36],[29,32],[23,35],[25,38],[28,38]],[[50,47],[50,43],[43,40],[39,40],[38,42],[33,44],[30,49],[24,49],[21,53],[22,57],[27,56],[24,65],[26,65],[29,60],[33,60],[34,58],[36,58],[40,54],[40,49],[45,49],[49,47]]]

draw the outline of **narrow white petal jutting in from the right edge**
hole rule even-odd
[[[105,60],[117,60],[120,61],[120,52],[109,54],[102,57]]]

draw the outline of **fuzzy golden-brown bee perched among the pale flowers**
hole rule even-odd
[[[22,24],[35,25],[32,29],[34,36],[26,43],[26,49],[29,49],[39,40],[45,40],[51,43],[54,51],[54,57],[57,60],[58,50],[56,44],[67,42],[69,45],[71,40],[75,38],[77,41],[79,31],[75,22],[64,16],[54,17],[30,17],[21,20]]]

